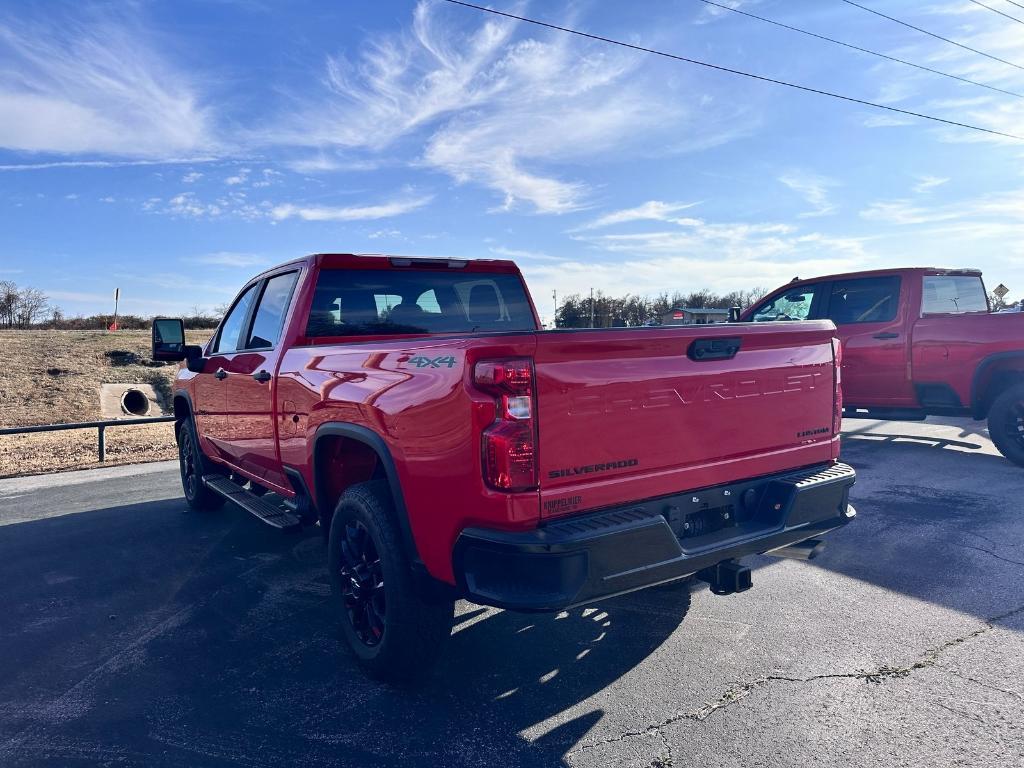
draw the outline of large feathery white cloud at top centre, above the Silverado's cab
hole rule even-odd
[[[330,58],[326,96],[292,110],[278,140],[371,157],[416,144],[414,162],[493,189],[497,210],[558,214],[593,203],[566,171],[573,164],[641,152],[652,135],[670,145],[721,132],[708,115],[681,126],[691,108],[652,83],[640,56],[561,34],[516,39],[508,19],[463,33],[465,18],[421,2],[407,34],[371,39],[354,59]]]

